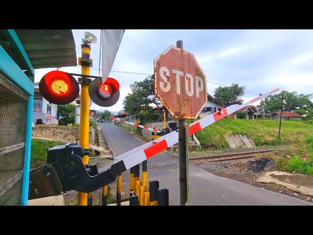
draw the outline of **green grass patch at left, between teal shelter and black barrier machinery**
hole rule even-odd
[[[61,144],[66,144],[66,142],[32,139],[30,152],[31,169],[45,165],[47,161],[47,148]]]

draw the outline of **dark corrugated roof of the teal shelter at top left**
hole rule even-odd
[[[71,29],[15,29],[34,69],[77,66],[75,42]],[[5,37],[0,35],[0,45],[11,58],[26,70]]]

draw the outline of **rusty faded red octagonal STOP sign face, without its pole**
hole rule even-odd
[[[154,60],[155,93],[173,118],[196,119],[207,103],[206,77],[195,56],[170,46]]]

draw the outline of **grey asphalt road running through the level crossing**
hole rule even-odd
[[[124,129],[101,123],[107,144],[115,156],[125,153],[143,142]],[[168,162],[154,163],[171,160]],[[178,159],[159,153],[148,159],[148,181],[158,180],[160,188],[169,189],[170,205],[179,205]],[[129,185],[129,170],[122,174],[123,187]],[[216,176],[189,163],[191,205],[313,205],[296,197],[257,188],[232,179]]]

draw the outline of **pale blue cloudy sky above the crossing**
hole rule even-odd
[[[98,39],[97,44],[91,44],[90,52],[90,74],[98,76],[101,30],[72,30],[77,57],[81,56],[85,31]],[[220,86],[214,83],[246,86],[245,101],[277,87],[280,91],[313,93],[313,30],[126,29],[109,75],[120,84],[120,98],[112,107],[95,105],[95,109],[122,110],[123,99],[131,92],[130,84],[148,76],[135,73],[153,74],[153,60],[170,45],[176,46],[178,40],[183,41],[184,50],[196,57],[211,95]],[[35,70],[35,82],[55,69]],[[61,71],[80,73],[81,69],[64,67]]]

